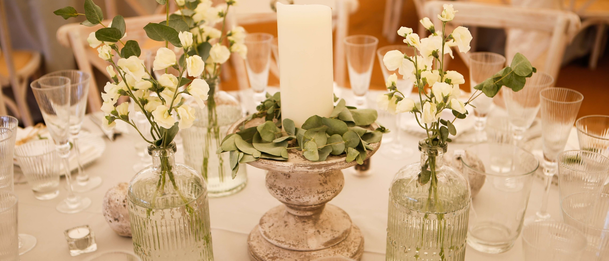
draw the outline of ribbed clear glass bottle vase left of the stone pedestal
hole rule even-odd
[[[143,261],[214,260],[205,181],[175,151],[175,142],[150,145],[152,165],[129,183],[133,251]]]

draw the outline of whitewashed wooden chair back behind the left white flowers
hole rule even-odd
[[[147,39],[146,32],[144,32],[144,26],[148,23],[159,23],[164,21],[166,18],[165,15],[147,15],[147,16],[135,16],[125,18],[125,39],[126,40],[137,40],[139,41],[139,45],[141,49],[145,49],[146,43],[156,42]],[[111,22],[111,19],[106,19],[102,21],[102,24],[107,25]],[[97,88],[97,84],[95,82],[93,67],[99,69],[104,74],[107,74],[105,68],[110,65],[107,61],[102,60],[97,57],[97,51],[89,46],[86,41],[86,38],[89,36],[91,32],[95,32],[97,29],[102,28],[102,26],[97,25],[93,27],[86,27],[82,24],[72,23],[65,24],[57,30],[57,41],[65,47],[71,47],[72,52],[74,52],[74,57],[76,58],[76,63],[78,68],[81,71],[87,72],[91,75],[90,80],[90,91],[88,97],[88,108],[90,111],[99,111],[101,108],[101,96],[100,91]],[[144,40],[146,40],[144,42]],[[145,52],[142,52],[144,55]],[[110,75],[108,75],[109,77]]]

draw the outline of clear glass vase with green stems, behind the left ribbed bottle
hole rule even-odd
[[[235,178],[229,164],[228,153],[216,154],[228,127],[243,116],[241,104],[230,94],[217,90],[217,79],[206,80],[209,97],[206,106],[196,104],[195,121],[191,128],[180,130],[184,145],[184,162],[198,170],[207,183],[211,198],[233,195],[247,184],[245,166],[241,165]],[[188,102],[193,103],[194,100]]]

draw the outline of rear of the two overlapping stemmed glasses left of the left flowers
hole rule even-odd
[[[100,176],[89,176],[82,167],[82,157],[80,156],[80,148],[78,137],[82,122],[85,119],[86,100],[89,94],[89,79],[91,76],[83,71],[78,70],[63,70],[51,72],[44,77],[63,76],[70,79],[70,127],[69,133],[76,153],[76,161],[78,162],[78,175],[76,182],[72,184],[72,189],[75,192],[88,192],[102,184]]]

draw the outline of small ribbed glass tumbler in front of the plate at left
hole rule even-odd
[[[15,156],[35,198],[51,200],[59,195],[60,164],[52,141],[40,139],[19,145]]]

